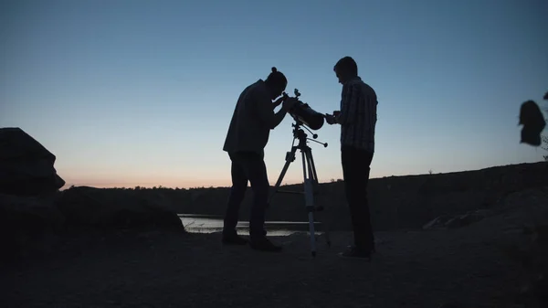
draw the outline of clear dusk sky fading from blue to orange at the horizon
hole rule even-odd
[[[548,90],[548,2],[2,1],[0,126],[57,156],[69,185],[229,186],[222,151],[241,90],[276,66],[288,92],[339,109],[335,62],[376,90],[372,177],[542,160],[518,114]],[[271,184],[288,116],[265,149]],[[311,143],[342,178],[339,126]],[[300,156],[284,183],[302,181]]]

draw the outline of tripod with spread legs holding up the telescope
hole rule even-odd
[[[314,191],[316,190],[318,186],[318,175],[316,174],[316,166],[314,165],[314,159],[312,158],[312,150],[310,146],[307,144],[307,140],[311,140],[315,143],[321,143],[316,140],[312,140],[308,138],[308,135],[304,133],[304,131],[301,128],[302,122],[295,119],[295,123],[291,124],[293,129],[293,143],[291,144],[291,151],[286,154],[286,163],[283,166],[283,169],[281,170],[281,173],[279,174],[278,181],[276,182],[276,186],[274,186],[274,190],[272,194],[269,197],[269,204],[270,199],[277,193],[290,193],[290,194],[302,194],[303,192],[295,192],[295,191],[279,191],[279,186],[281,184],[281,181],[283,180],[283,177],[285,176],[286,172],[288,171],[288,168],[290,167],[290,164],[295,161],[295,153],[297,150],[300,150],[300,154],[302,157],[302,175],[304,177],[304,198],[305,198],[305,208],[308,212],[308,218],[309,218],[309,229],[310,229],[310,238],[311,238],[311,254],[312,257],[316,257],[316,240],[315,240],[315,231],[314,231],[314,212],[316,211],[322,211],[323,207],[316,207],[314,205]],[[302,126],[306,128],[305,126]],[[310,130],[306,128],[309,132]],[[313,138],[317,138],[317,134],[312,134]],[[295,140],[299,140],[299,144],[295,145]],[[327,143],[321,143],[324,147],[327,147]],[[327,245],[331,247],[331,240],[329,239],[329,231],[327,228],[325,228],[325,239],[327,241]]]

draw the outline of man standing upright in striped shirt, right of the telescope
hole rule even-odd
[[[342,257],[370,258],[374,251],[367,182],[374,155],[377,97],[358,76],[353,58],[341,58],[334,69],[342,84],[341,111],[326,114],[330,124],[341,124],[342,175],[353,225],[354,245]]]

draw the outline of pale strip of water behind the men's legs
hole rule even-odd
[[[191,233],[213,233],[223,229],[223,218],[213,215],[194,215],[179,214],[184,228]],[[269,236],[287,236],[295,232],[309,231],[308,221],[266,221],[265,228],[269,231]],[[321,234],[320,222],[314,222],[314,229],[317,234]],[[249,222],[239,221],[237,223],[237,233],[242,235],[249,234]]]

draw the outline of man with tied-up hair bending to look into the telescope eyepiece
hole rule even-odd
[[[283,93],[287,84],[285,76],[276,68],[272,68],[267,80],[258,80],[249,85],[237,100],[223,147],[232,161],[232,189],[228,197],[223,228],[223,242],[226,244],[247,243],[246,239],[237,235],[236,226],[239,207],[249,181],[254,195],[249,218],[250,246],[256,250],[281,250],[281,247],[267,239],[267,232],[264,229],[269,179],[263,158],[270,130],[282,122],[296,101],[288,98],[282,102],[279,112],[274,112],[274,108],[283,98],[275,103],[272,101]]]

